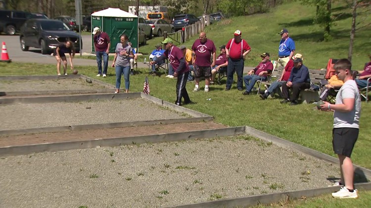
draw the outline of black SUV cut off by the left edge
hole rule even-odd
[[[0,33],[14,35],[15,32],[20,30],[23,23],[30,18],[32,18],[30,12],[0,10]]]

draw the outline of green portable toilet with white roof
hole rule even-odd
[[[92,31],[95,27],[106,32],[111,40],[110,53],[114,53],[117,43],[120,42],[120,36],[128,35],[133,48],[138,48],[138,16],[121,10],[119,8],[108,8],[92,14]],[[94,51],[94,42],[92,34],[92,52]],[[138,51],[138,50],[137,50]]]

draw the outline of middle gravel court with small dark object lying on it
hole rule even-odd
[[[145,99],[0,105],[0,130],[185,118]],[[188,116],[189,117],[189,116]]]

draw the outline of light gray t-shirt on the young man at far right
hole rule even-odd
[[[333,128],[355,128],[359,129],[361,116],[361,98],[357,84],[354,80],[346,81],[336,95],[335,104],[343,104],[343,99],[354,98],[354,107],[350,112],[340,112],[335,110],[333,113]]]

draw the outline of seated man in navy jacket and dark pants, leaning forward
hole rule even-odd
[[[284,100],[281,104],[290,103],[290,105],[298,104],[300,90],[308,89],[311,85],[309,78],[309,70],[303,65],[301,58],[294,60],[294,68],[291,70],[290,78],[288,78],[286,85],[282,85],[282,95]],[[288,93],[288,89],[292,88],[292,97]]]

